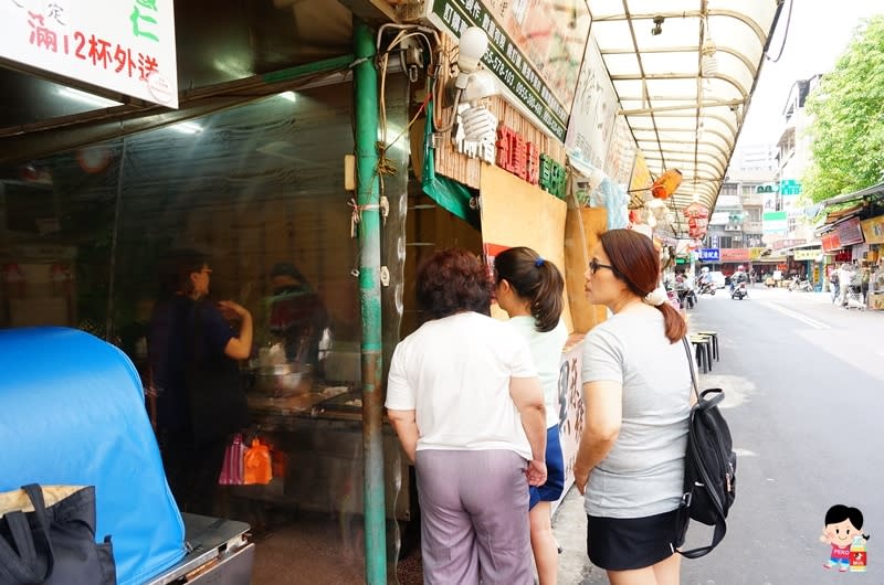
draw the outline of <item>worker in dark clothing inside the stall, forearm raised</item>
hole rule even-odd
[[[252,316],[232,300],[207,300],[212,270],[200,254],[176,253],[167,262],[167,296],[148,334],[152,422],[179,509],[211,515],[224,449],[246,422],[238,360],[252,350]]]

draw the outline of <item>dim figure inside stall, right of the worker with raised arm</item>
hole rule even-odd
[[[328,313],[307,279],[291,263],[271,268],[270,332],[283,338],[286,360],[316,365]]]

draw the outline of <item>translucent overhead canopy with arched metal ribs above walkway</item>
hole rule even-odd
[[[695,201],[715,209],[782,0],[588,4],[590,32],[651,173],[682,171],[677,215]],[[703,66],[704,43],[713,67]]]

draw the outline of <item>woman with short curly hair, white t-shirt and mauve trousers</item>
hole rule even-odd
[[[525,510],[546,481],[546,411],[525,340],[488,316],[485,266],[463,249],[418,272],[431,320],[396,348],[387,414],[414,464],[423,578],[534,583]]]

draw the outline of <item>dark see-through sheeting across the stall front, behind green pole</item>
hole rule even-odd
[[[391,213],[381,264],[393,275],[381,290],[387,357],[407,288],[407,92],[403,77],[388,79],[387,140],[396,143],[382,161]],[[356,526],[362,512],[356,195],[344,181],[352,151],[352,85],[337,83],[0,169],[0,328],[86,330],[120,345],[148,384],[146,338],[170,292],[170,260],[200,253],[210,299],[253,316],[252,355],[241,362],[248,439],[260,436],[273,454],[271,483],[231,486],[230,515],[253,521],[255,501],[326,523],[330,512],[330,528],[302,515],[290,536],[337,542],[339,522]],[[292,364],[309,375],[272,375]],[[385,453],[388,514],[407,519],[408,466],[387,430]],[[361,552],[350,544],[356,556],[338,568],[358,575]]]

